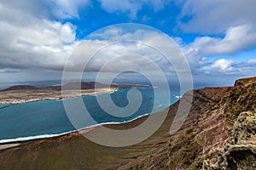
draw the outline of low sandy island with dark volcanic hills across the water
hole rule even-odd
[[[63,86],[38,88],[31,85],[16,85],[0,91],[1,104],[21,104],[45,99],[66,99],[84,95],[111,93],[118,88],[150,88],[148,85],[104,84],[100,82],[68,82]],[[61,89],[66,92],[62,93]]]

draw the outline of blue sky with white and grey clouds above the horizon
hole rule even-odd
[[[84,48],[93,50],[113,40],[136,37],[166,47],[154,29],[177,43],[194,82],[232,85],[237,78],[256,76],[255,6],[254,0],[1,1],[0,88],[8,82],[61,79],[67,59],[82,42]],[[154,29],[138,26],[127,33],[115,26],[121,23]],[[90,49],[86,53],[90,54]],[[100,71],[118,51],[148,56],[164,68],[166,75],[173,72],[153,51],[137,43],[120,43],[90,62],[89,75]],[[172,56],[174,60],[178,57]],[[72,63],[73,68],[78,67],[79,59]],[[123,59],[112,63],[105,73],[119,71],[119,65],[150,71],[148,65]]]

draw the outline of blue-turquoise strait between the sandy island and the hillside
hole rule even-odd
[[[140,108],[131,116],[111,116],[103,111],[96,101],[96,96],[84,96],[84,105],[90,112],[90,116],[96,120],[96,124],[106,122],[127,122],[155,111],[161,111],[177,101],[177,92],[172,93],[170,101],[155,101],[154,89],[138,88],[143,94],[143,102]],[[129,88],[119,89],[111,95],[115,105],[124,107],[128,104],[126,98]],[[106,94],[97,94],[106,95]],[[165,95],[165,93],[163,93]],[[26,139],[44,138],[56,134],[68,133],[76,130],[69,122],[62,100],[44,100],[20,105],[0,105],[0,143],[19,141]],[[83,127],[91,124],[84,123]]]

